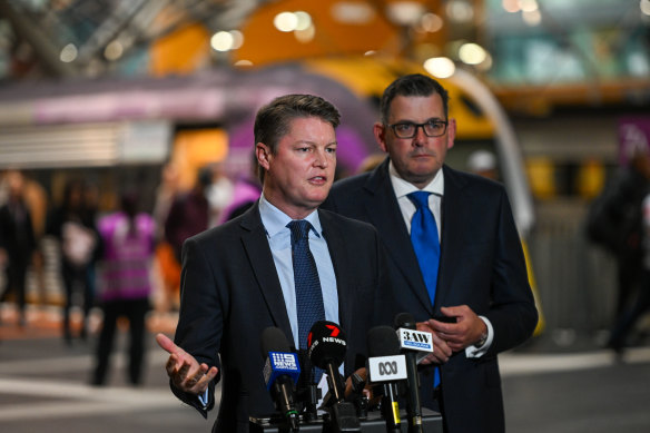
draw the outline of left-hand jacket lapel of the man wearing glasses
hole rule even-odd
[[[417,257],[413,252],[411,237],[406,230],[406,225],[391,184],[387,158],[368,177],[364,190],[366,194],[363,200],[368,220],[380,233],[386,252],[408,282],[408,288],[414,292],[422,305],[433,314],[433,306],[422,279]]]

